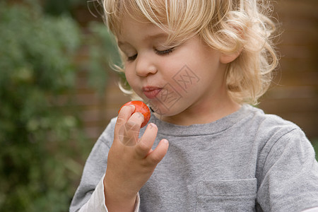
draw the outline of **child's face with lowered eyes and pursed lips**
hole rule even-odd
[[[229,101],[220,52],[199,37],[165,47],[167,34],[163,30],[131,18],[124,18],[121,32],[117,38],[125,54],[126,79],[156,116],[167,122],[194,119],[193,114],[202,117],[213,105],[222,107]]]

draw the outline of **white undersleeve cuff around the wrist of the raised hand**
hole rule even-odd
[[[102,176],[102,179],[100,179],[100,182],[98,183],[98,186],[95,188],[95,191],[93,192],[92,196],[90,196],[90,199],[88,199],[88,202],[84,204],[79,212],[108,212],[107,207],[105,205],[105,193],[104,193],[104,179],[105,175]],[[135,210],[134,212],[139,211],[139,204],[140,204],[140,197],[139,194],[136,196],[136,204],[135,204]]]

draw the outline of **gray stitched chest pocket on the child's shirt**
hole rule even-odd
[[[201,181],[196,211],[255,211],[257,179]]]

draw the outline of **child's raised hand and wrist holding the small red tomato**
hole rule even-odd
[[[155,150],[151,148],[158,131],[153,123],[148,124],[138,139],[143,115],[139,112],[133,114],[134,109],[134,105],[122,107],[114,128],[114,142],[108,153],[104,178],[108,211],[133,211],[137,192],[167,153],[165,139]]]

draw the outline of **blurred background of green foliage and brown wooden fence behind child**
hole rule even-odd
[[[257,106],[318,147],[318,1],[278,0],[281,65]],[[86,0],[0,1],[0,208],[68,211],[83,165],[119,107],[119,64]]]

